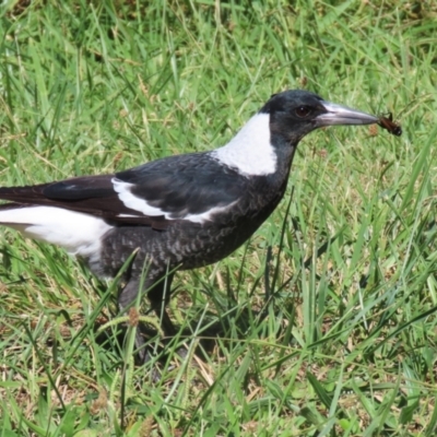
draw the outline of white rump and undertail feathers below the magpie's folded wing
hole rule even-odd
[[[98,253],[102,237],[113,228],[103,218],[56,206],[2,210],[0,224],[84,258]]]

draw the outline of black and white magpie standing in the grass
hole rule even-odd
[[[164,331],[173,334],[162,308],[174,271],[216,262],[258,229],[284,196],[297,143],[307,133],[377,122],[314,93],[285,91],[214,151],[168,156],[114,175],[0,188],[0,199],[10,201],[0,206],[0,224],[66,248],[101,276],[116,275],[138,250],[119,306],[127,308],[149,291]]]

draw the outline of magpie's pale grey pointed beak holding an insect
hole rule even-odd
[[[327,113],[316,117],[318,127],[333,125],[373,125],[379,120],[378,117],[370,116],[370,114],[336,105],[331,102],[322,101],[321,104]]]

